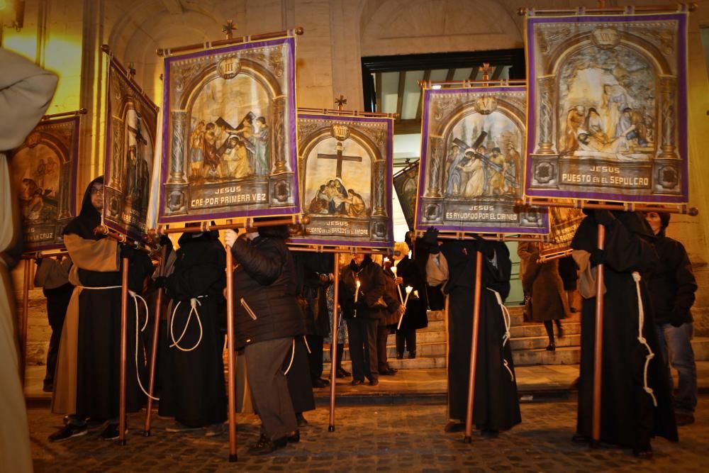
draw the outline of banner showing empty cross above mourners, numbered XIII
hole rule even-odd
[[[392,247],[393,119],[298,113],[305,235],[292,243]]]

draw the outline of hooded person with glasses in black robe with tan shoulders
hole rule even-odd
[[[89,184],[79,216],[69,222],[64,230],[64,243],[74,262],[69,281],[76,288],[62,330],[52,411],[76,414],[74,421],[78,423],[86,418],[108,420],[109,425],[104,432],[107,436],[104,437],[113,438],[118,423],[123,257],[127,257],[129,262],[128,289],[138,294],[152,271],[152,263],[145,252],[94,234],[94,228],[101,224],[101,213],[91,203],[92,194],[96,194],[92,189],[94,184],[103,183],[103,177],[97,177]],[[141,312],[143,318],[140,325],[143,325],[147,314]],[[138,411],[144,399],[136,373],[144,371],[141,361],[144,360],[144,352],[140,340],[135,340],[135,323],[135,304],[129,296],[128,412]],[[136,343],[138,367],[135,364]]]

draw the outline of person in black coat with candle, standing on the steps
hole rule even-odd
[[[413,249],[411,232],[406,233],[404,242],[408,250]],[[425,252],[425,256],[428,257],[428,252]],[[396,274],[403,279],[401,286],[413,287],[406,304],[406,313],[401,319],[401,327],[396,329],[396,357],[401,360],[405,344],[408,357],[416,357],[416,330],[428,327],[428,291],[425,265],[420,265],[418,255],[411,257],[407,251],[396,264],[396,269]],[[402,292],[402,295],[406,298],[406,293]]]

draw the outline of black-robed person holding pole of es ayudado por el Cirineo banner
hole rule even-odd
[[[437,231],[430,229],[430,260],[438,257]],[[501,242],[447,240],[440,253],[447,262],[449,278],[444,286],[448,301],[448,412],[447,431],[462,430],[466,418],[470,373],[471,335],[476,251],[483,252],[480,318],[475,374],[473,423],[483,435],[494,436],[522,421],[517,396],[515,367],[503,311],[498,303],[510,292],[510,252]],[[429,263],[430,264],[430,263]]]

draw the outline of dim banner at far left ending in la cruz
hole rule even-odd
[[[19,197],[23,250],[63,246],[62,230],[75,216],[78,154],[78,116],[40,122],[13,151],[10,172]]]

